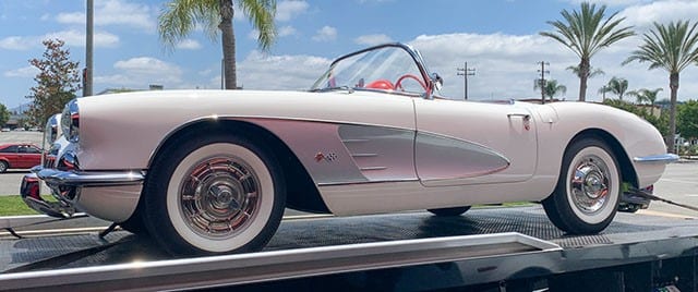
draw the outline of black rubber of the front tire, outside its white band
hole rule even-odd
[[[225,252],[201,250],[184,240],[171,222],[171,217],[167,207],[168,196],[178,195],[168,194],[167,190],[170,184],[171,177],[180,162],[196,149],[218,143],[238,145],[256,155],[264,162],[266,170],[269,172],[274,188],[274,204],[272,206],[272,212],[266,218],[266,222],[262,231],[244,245]],[[214,134],[206,135],[205,137],[193,135],[184,136],[171,143],[169,147],[163,149],[161,155],[158,156],[156,161],[153,163],[146,181],[144,195],[143,204],[145,208],[143,209],[145,212],[143,214],[143,217],[148,233],[151,233],[152,238],[154,238],[160,246],[172,255],[257,251],[262,248],[276,232],[286,205],[284,175],[281,175],[274,156],[262,146],[257,146],[253,141],[230,134]]]

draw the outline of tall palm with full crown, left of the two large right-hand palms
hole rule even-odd
[[[631,26],[619,27],[625,17],[613,20],[616,13],[604,20],[606,7],[597,10],[595,4],[581,3],[581,11],[568,12],[563,10],[561,14],[565,22],[547,22],[556,28],[555,32],[541,32],[546,36],[563,44],[574,51],[580,59],[577,76],[579,77],[579,100],[585,101],[587,95],[587,80],[591,75],[591,57],[602,48],[634,36]]]

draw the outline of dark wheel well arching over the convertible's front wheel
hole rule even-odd
[[[329,212],[315,183],[286,143],[268,130],[253,123],[236,120],[206,120],[188,124],[160,143],[148,165],[153,165],[158,159],[165,145],[177,143],[180,138],[213,132],[244,135],[272,151],[270,155],[276,157],[286,180],[286,207],[311,212]]]

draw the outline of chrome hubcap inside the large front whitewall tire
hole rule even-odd
[[[189,228],[209,239],[231,238],[254,220],[261,203],[254,171],[234,157],[213,157],[195,165],[179,191]]]

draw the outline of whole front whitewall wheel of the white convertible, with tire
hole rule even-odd
[[[174,255],[261,250],[286,204],[274,157],[239,136],[180,142],[151,171],[144,199],[151,235]]]

